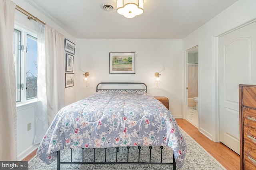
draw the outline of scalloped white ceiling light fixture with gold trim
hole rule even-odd
[[[134,18],[143,13],[143,0],[116,0],[116,12],[125,18]]]

